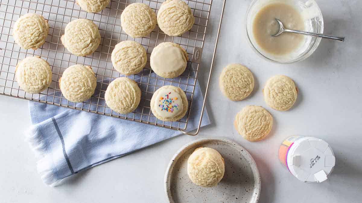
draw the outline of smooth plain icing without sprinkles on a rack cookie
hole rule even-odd
[[[174,72],[186,66],[185,55],[180,47],[168,44],[153,51],[156,52],[153,53],[155,57],[152,57],[151,67],[155,67],[159,72]]]

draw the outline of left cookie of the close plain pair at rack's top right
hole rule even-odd
[[[155,12],[146,4],[130,4],[121,14],[122,29],[133,38],[147,36],[155,29],[156,23]]]

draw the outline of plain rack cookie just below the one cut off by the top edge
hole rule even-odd
[[[74,55],[87,56],[98,48],[101,34],[98,27],[87,19],[73,20],[66,26],[60,38],[65,48]]]

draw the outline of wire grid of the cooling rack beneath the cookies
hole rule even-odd
[[[168,36],[156,26],[149,36],[136,39],[131,38],[122,30],[120,16],[123,9],[129,4],[140,2],[150,6],[157,14],[164,0],[111,0],[110,4],[99,13],[85,12],[75,3],[75,0],[0,0],[0,2],[0,94],[169,129],[186,129],[194,98],[212,0],[185,0],[194,14],[195,23],[191,30],[182,36]],[[14,23],[26,13],[40,14],[49,23],[50,28],[46,42],[36,50],[20,48],[12,36]],[[67,23],[78,18],[92,20],[99,28],[102,37],[101,44],[91,56],[72,55],[60,41]],[[115,78],[124,76],[113,69],[110,60],[114,46],[123,40],[135,40],[147,50],[146,67],[141,73],[128,76],[139,84],[142,91],[141,102],[134,112],[126,115],[112,111],[106,106],[104,100],[105,90],[109,83]],[[188,53],[188,66],[180,77],[165,79],[151,70],[149,60],[152,49],[162,42],[180,44]],[[50,87],[39,94],[29,94],[21,90],[14,74],[16,65],[20,60],[34,55],[47,60],[53,73]],[[59,88],[59,78],[63,71],[74,64],[91,66],[97,78],[96,92],[88,101],[81,103],[69,102],[63,97]],[[151,112],[151,97],[159,87],[164,85],[180,87],[186,93],[189,110],[180,121],[161,121]]]

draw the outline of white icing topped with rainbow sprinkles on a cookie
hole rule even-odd
[[[156,98],[155,109],[161,117],[173,118],[182,113],[182,99],[177,92],[171,89],[161,90]]]

